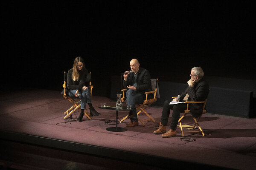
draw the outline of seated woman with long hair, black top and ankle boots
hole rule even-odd
[[[84,109],[86,103],[90,107],[91,116],[99,116],[92,105],[90,99],[90,89],[85,86],[88,71],[84,67],[84,60],[81,57],[76,57],[74,60],[73,68],[67,72],[67,88],[69,89],[68,95],[71,97],[79,97],[81,99],[81,113],[78,121],[81,122],[84,116]]]

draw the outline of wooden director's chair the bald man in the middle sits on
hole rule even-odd
[[[150,79],[151,80],[151,85],[152,85],[152,91],[148,91],[148,92],[145,92],[145,95],[146,95],[146,98],[143,102],[143,104],[136,104],[136,111],[137,111],[137,117],[138,117],[138,120],[141,122],[141,124],[144,126],[145,123],[144,122],[148,122],[148,121],[153,121],[153,122],[156,122],[151,116],[149,116],[149,114],[145,111],[146,108],[148,108],[150,105],[152,105],[154,102],[157,101],[157,88],[158,88],[158,79]],[[152,83],[153,82],[153,83]],[[122,89],[122,102],[125,102],[125,91],[127,91],[127,89]],[[148,99],[148,94],[154,94],[154,98],[152,99]],[[142,120],[140,119],[139,117],[139,114],[143,112],[146,114],[146,116],[148,116],[149,119],[145,119],[145,120]],[[120,120],[120,123],[123,122],[125,119],[127,119],[129,115],[125,116],[122,120]]]

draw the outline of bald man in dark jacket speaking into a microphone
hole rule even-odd
[[[138,118],[135,104],[142,104],[145,92],[152,91],[150,74],[145,68],[140,68],[140,63],[137,59],[132,59],[130,62],[132,73],[124,74],[123,86],[128,88],[126,92],[127,105],[131,106],[128,118],[131,122],[126,124],[128,127],[138,126]]]

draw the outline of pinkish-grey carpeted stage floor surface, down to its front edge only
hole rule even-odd
[[[207,113],[200,122],[206,135],[186,133],[186,137],[195,139],[187,142],[180,139],[180,129],[177,129],[177,136],[172,138],[161,138],[160,135],[153,134],[159,125],[162,108],[147,109],[155,123],[147,122],[145,126],[139,123],[137,127],[127,127],[125,132],[111,132],[106,128],[116,126],[116,111],[99,109],[102,102],[110,106],[115,105],[114,101],[106,97],[92,97],[92,104],[101,115],[94,116],[91,120],[84,116],[82,122],[63,120],[63,113],[72,104],[64,99],[60,91],[19,91],[1,94],[0,101],[0,130],[3,132],[41,136],[224,168],[256,169],[255,118],[244,119]],[[72,115],[73,119],[77,118],[79,111]],[[126,115],[127,112],[119,111],[119,119]],[[144,119],[146,116],[142,114],[140,118]],[[192,119],[188,118],[184,123],[192,125],[189,123],[191,121]],[[125,127],[128,122],[126,119],[118,124],[118,127]]]

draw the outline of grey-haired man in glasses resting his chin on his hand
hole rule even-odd
[[[204,101],[207,99],[209,93],[209,85],[207,81],[203,78],[204,71],[200,67],[194,67],[191,69],[191,74],[186,90],[180,95],[180,102],[185,101]],[[169,99],[164,102],[163,111],[161,116],[161,122],[154,134],[161,134],[165,138],[176,136],[176,128],[180,118],[180,112],[186,110],[186,103],[179,103],[175,105],[170,105],[170,102],[177,101],[175,99]],[[177,101],[178,102],[178,101]],[[172,109],[172,123],[170,125],[170,130],[166,132],[166,125],[170,115],[170,110]],[[202,114],[203,103],[191,103],[189,104],[189,110],[194,117],[199,117]]]

